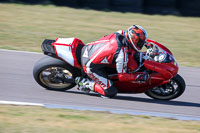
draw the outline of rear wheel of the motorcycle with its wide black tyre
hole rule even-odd
[[[45,56],[35,63],[33,77],[48,90],[65,91],[73,88],[78,71],[62,60]]]

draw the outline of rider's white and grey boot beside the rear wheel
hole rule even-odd
[[[94,81],[90,81],[87,78],[76,77],[75,83],[78,85],[78,89],[86,94],[93,91]]]

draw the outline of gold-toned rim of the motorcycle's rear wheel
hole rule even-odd
[[[50,88],[63,89],[71,85],[65,79],[72,79],[72,73],[62,67],[49,67],[41,71],[40,81]]]

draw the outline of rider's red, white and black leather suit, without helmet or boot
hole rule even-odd
[[[121,33],[107,35],[95,42],[84,46],[81,61],[85,73],[95,81],[93,91],[107,97],[117,94],[117,88],[105,72],[105,67],[116,65],[120,81],[136,80],[136,74],[127,73],[127,69],[138,67],[133,58],[136,50],[129,48],[129,42]]]

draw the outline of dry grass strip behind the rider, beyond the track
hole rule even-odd
[[[0,4],[0,48],[41,52],[45,38],[77,37],[87,43],[132,24],[169,47],[180,65],[200,67],[200,18],[192,17]]]

